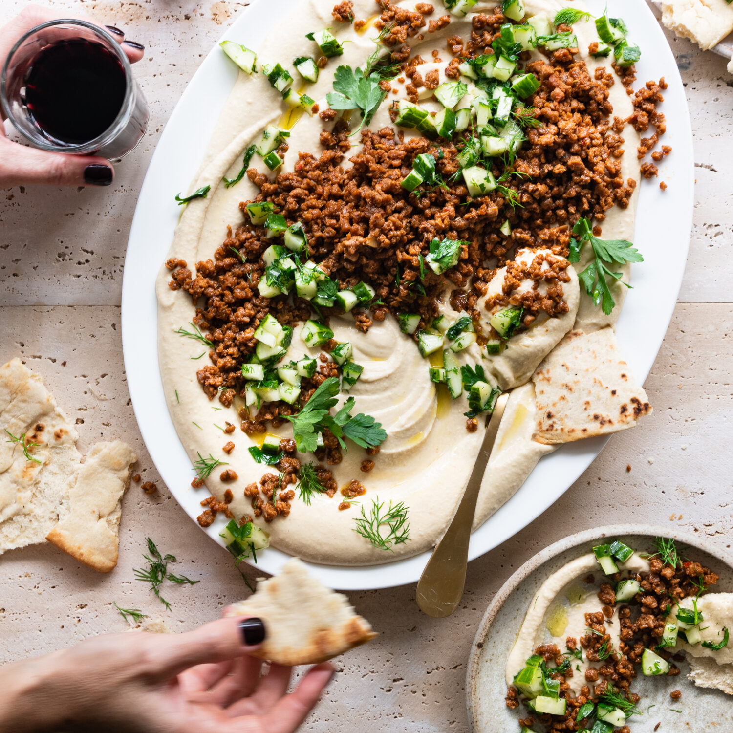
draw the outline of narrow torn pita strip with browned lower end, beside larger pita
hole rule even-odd
[[[68,513],[48,533],[48,542],[94,570],[112,570],[117,565],[120,501],[136,460],[122,441],[92,446],[70,491]]]

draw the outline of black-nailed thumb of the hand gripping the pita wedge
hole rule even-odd
[[[243,616],[219,619],[195,631],[157,637],[153,666],[163,678],[197,664],[243,657],[265,639],[262,619]]]

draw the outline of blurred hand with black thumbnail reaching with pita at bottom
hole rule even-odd
[[[119,633],[0,667],[0,730],[13,733],[292,733],[331,679],[312,667],[286,694],[291,667],[248,655],[260,619],[183,634]]]

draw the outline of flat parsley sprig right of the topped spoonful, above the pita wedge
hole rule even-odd
[[[614,309],[616,301],[611,295],[606,276],[623,282],[621,280],[623,274],[611,272],[606,267],[606,263],[623,265],[625,262],[644,262],[644,257],[634,248],[632,243],[625,239],[599,239],[594,237],[589,219],[578,219],[578,222],[572,227],[572,233],[578,239],[570,240],[570,254],[567,259],[569,262],[578,262],[581,259],[582,244],[584,242],[590,243],[595,259],[583,272],[578,273],[578,279],[585,287],[588,295],[593,298],[593,303],[596,306],[601,304],[603,312],[608,315]],[[631,287],[625,282],[623,284],[626,287]]]

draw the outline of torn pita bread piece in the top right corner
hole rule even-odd
[[[733,30],[733,6],[726,0],[670,0],[662,3],[662,23],[707,51]]]

